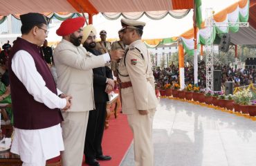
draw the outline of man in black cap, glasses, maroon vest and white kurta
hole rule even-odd
[[[27,107],[30,107],[28,101],[32,99],[42,108],[48,109],[48,112],[56,111],[56,115],[58,115],[58,109],[66,110],[70,107],[69,100],[71,97],[60,98],[58,95],[62,94],[61,91],[55,89],[57,93],[54,93],[48,88],[49,86],[48,84],[46,85],[46,82],[49,83],[49,81],[44,80],[44,78],[48,77],[51,80],[50,82],[53,82],[52,75],[50,72],[43,72],[44,76],[42,76],[41,72],[42,68],[47,68],[47,64],[40,57],[42,55],[40,52],[37,52],[37,55],[31,54],[43,44],[44,39],[47,37],[47,32],[44,31],[47,30],[48,24],[46,17],[39,13],[28,13],[21,15],[21,23],[23,26],[21,26],[22,38],[17,38],[17,43],[13,46],[8,62],[11,93],[13,95],[12,106],[15,106],[13,107],[15,133],[10,151],[20,155],[23,166],[45,166],[46,160],[60,156],[60,151],[64,150],[62,129],[60,127],[60,118],[62,117],[57,118],[57,122],[54,122],[53,119],[54,125],[37,124],[33,119],[28,122],[25,118],[30,115],[26,115],[27,110],[17,108],[17,102],[25,101],[21,102],[21,104],[28,104]],[[15,84],[15,82],[20,84]],[[18,86],[26,89],[25,96],[29,96],[30,100],[27,100],[24,95],[19,96],[20,89]],[[20,100],[16,100],[15,96],[18,96]],[[13,100],[14,98],[15,100]],[[37,111],[36,109],[34,109],[35,112]],[[25,115],[24,125],[17,122],[19,120],[17,114],[21,112],[24,112]],[[30,113],[33,113],[33,111]],[[40,117],[37,118],[40,119]],[[44,122],[44,119],[42,119],[42,122]]]

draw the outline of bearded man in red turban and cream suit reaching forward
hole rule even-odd
[[[53,53],[57,71],[57,87],[64,93],[72,95],[72,106],[62,112],[63,140],[65,151],[62,153],[63,166],[82,165],[84,138],[89,111],[95,109],[93,101],[92,68],[104,66],[110,61],[109,53],[95,56],[80,46],[85,19],[77,17],[66,19],[57,29],[62,41]],[[111,59],[119,59],[123,51],[111,52]]]

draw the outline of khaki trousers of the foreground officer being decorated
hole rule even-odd
[[[129,126],[134,133],[134,159],[136,166],[154,165],[152,124],[156,109],[149,109],[145,116],[139,113],[127,115]]]

